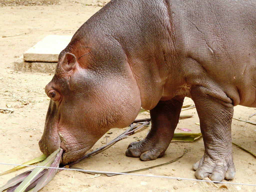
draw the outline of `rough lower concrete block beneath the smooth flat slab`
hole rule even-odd
[[[40,73],[55,73],[57,63],[24,61],[23,56],[14,61],[14,70]]]

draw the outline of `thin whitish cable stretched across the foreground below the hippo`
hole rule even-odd
[[[42,167],[42,168],[50,168],[50,169],[65,169],[65,170],[73,170],[73,171],[81,171],[81,169],[69,169],[69,168],[59,168],[59,167],[44,167],[44,166],[35,166],[35,165],[19,165],[19,164],[9,164],[9,163],[0,163],[1,165],[15,165],[15,166],[26,166],[26,167]],[[191,181],[201,181],[201,182],[212,182],[212,183],[223,183],[223,184],[233,184],[233,185],[248,185],[248,186],[256,186],[253,184],[245,184],[245,183],[231,183],[224,181],[208,181],[208,180],[199,180],[199,179],[188,179],[188,178],[180,178],[180,177],[166,177],[166,176],[155,176],[155,175],[141,175],[141,174],[133,174],[133,173],[118,173],[118,172],[105,172],[105,171],[94,171],[94,170],[84,170],[90,173],[111,173],[111,174],[120,174],[120,175],[134,175],[134,176],[144,176],[144,177],[157,177],[157,178],[168,178],[168,179],[182,179],[182,180],[191,180]]]

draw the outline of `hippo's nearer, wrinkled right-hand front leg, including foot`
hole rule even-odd
[[[204,87],[190,90],[200,119],[204,139],[204,156],[193,165],[198,179],[209,177],[214,181],[233,179],[236,170],[233,163],[231,122],[232,101],[225,93],[211,93]]]

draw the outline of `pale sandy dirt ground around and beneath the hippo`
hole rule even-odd
[[[0,1],[1,2],[1,1]],[[4,2],[4,1],[2,1]],[[6,3],[7,2],[7,3]],[[8,4],[10,1],[5,1]],[[38,141],[44,130],[45,115],[49,100],[44,88],[53,74],[30,73],[15,71],[14,60],[21,56],[31,46],[47,35],[72,35],[100,6],[88,6],[96,1],[68,1],[56,3],[42,3],[36,6],[26,6],[21,1],[6,6],[0,4],[0,108],[6,105],[14,112],[0,113],[0,162],[19,164],[41,155]],[[96,2],[98,3],[98,2]],[[104,2],[100,2],[103,3]],[[40,3],[39,3],[40,4]],[[93,4],[94,5],[94,4]],[[101,4],[100,4],[101,5]],[[2,37],[7,36],[7,37]],[[191,103],[186,99],[185,103]],[[254,108],[236,106],[234,117],[256,122]],[[199,133],[199,122],[195,109],[183,111],[182,114],[194,114],[193,118],[180,120],[179,128],[191,129]],[[140,117],[148,117],[142,114]],[[123,132],[122,129],[112,129],[108,141]],[[176,133],[182,131],[176,130]],[[106,150],[76,164],[88,170],[124,172],[149,166],[158,165],[174,159],[184,150],[188,152],[184,157],[172,164],[150,169],[139,174],[181,177],[195,179],[192,165],[204,152],[202,139],[196,142],[172,142],[164,157],[155,161],[142,162],[138,158],[125,156],[125,150],[130,142],[145,137],[147,129],[139,131],[128,138],[112,145]],[[256,126],[233,120],[232,140],[248,150],[256,153]],[[98,148],[106,141],[105,135],[93,147]],[[256,159],[250,154],[233,147],[236,177],[230,182],[256,184]],[[0,172],[14,166],[0,165]],[[28,170],[26,168],[25,170]],[[0,176],[0,186],[8,179],[25,170]],[[256,187],[177,180],[168,178],[154,178],[143,176],[119,175],[114,177],[79,173],[76,171],[62,171],[41,191],[255,191]],[[226,189],[227,187],[227,189]]]

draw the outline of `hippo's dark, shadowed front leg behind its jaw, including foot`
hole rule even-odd
[[[133,142],[125,153],[129,157],[140,157],[142,161],[162,157],[168,148],[179,122],[184,97],[175,97],[168,101],[159,101],[150,110],[151,130],[140,142]]]

